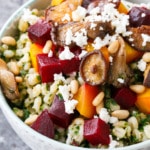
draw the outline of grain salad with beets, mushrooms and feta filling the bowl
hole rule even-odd
[[[150,4],[52,0],[0,40],[0,83],[37,132],[80,147],[150,139]]]

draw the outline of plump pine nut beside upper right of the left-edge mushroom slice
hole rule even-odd
[[[18,75],[20,73],[20,69],[19,69],[19,67],[17,65],[17,62],[11,61],[7,65],[8,65],[9,70],[13,74]]]

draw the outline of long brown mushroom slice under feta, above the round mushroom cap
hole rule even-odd
[[[94,28],[92,28],[93,24],[95,25]],[[76,37],[77,33],[81,33],[84,30],[87,34],[85,36],[91,39],[95,39],[96,37],[101,37],[103,39],[106,34],[112,34],[114,31],[110,22],[70,22],[58,26],[52,34],[52,40],[54,43],[61,46],[72,46],[75,44],[72,38]],[[70,41],[69,43],[68,40]]]

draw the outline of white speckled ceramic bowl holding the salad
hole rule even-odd
[[[135,0],[134,2],[136,2]],[[141,0],[142,1],[142,0]],[[5,35],[15,34],[15,27],[19,16],[22,14],[22,10],[26,7],[43,9],[46,8],[50,0],[29,0],[25,3],[20,9],[18,9],[6,22],[3,28],[0,31],[0,38]],[[144,2],[144,1],[142,1]],[[149,0],[145,0],[149,2]],[[3,96],[3,93],[0,90],[0,106],[2,112],[4,113],[6,119],[15,130],[15,132],[20,136],[20,138],[33,150],[87,150],[88,148],[80,148],[75,146],[70,146],[58,141],[52,140],[39,134],[38,132],[32,130],[30,127],[25,125],[11,110],[6,99]],[[145,141],[139,144],[132,146],[127,146],[123,148],[115,148],[115,150],[143,150],[150,147],[150,141]],[[97,149],[90,149],[97,150]]]

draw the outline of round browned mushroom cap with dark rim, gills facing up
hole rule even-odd
[[[90,85],[103,84],[107,77],[107,62],[98,50],[89,52],[81,61],[80,74]]]

